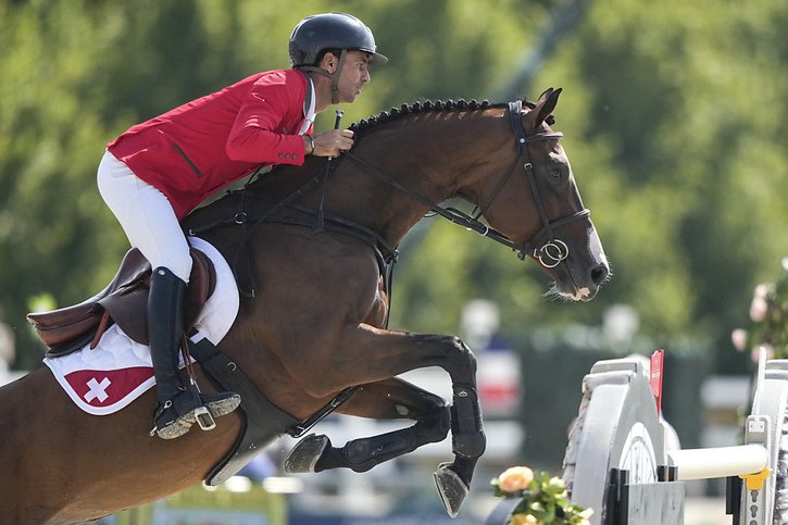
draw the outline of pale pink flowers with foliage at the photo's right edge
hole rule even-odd
[[[788,258],[781,265],[779,278],[762,283],[753,291],[750,329],[736,329],[731,335],[736,349],[751,350],[753,361],[760,347],[766,349],[770,359],[788,358]]]

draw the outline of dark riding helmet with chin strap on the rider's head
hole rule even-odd
[[[339,66],[328,73],[317,66],[322,53],[339,50]],[[290,63],[296,70],[325,75],[332,79],[332,102],[339,102],[339,75],[348,51],[370,53],[370,64],[385,64],[388,59],[377,52],[372,30],[359,18],[347,13],[324,13],[308,16],[298,23],[290,35]]]

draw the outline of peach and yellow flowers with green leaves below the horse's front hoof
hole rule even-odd
[[[573,504],[560,477],[546,472],[534,473],[527,466],[506,468],[490,482],[495,495],[522,498],[509,525],[589,525],[591,509]]]

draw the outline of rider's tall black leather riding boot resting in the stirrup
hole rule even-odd
[[[210,430],[215,426],[214,417],[229,414],[240,403],[240,396],[235,392],[202,395],[196,384],[182,385],[178,347],[184,336],[185,296],[186,283],[170,270],[160,266],[153,271],[148,298],[148,333],[159,400],[153,430],[162,439],[183,436],[195,423],[203,430]]]

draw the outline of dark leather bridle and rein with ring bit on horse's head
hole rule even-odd
[[[443,208],[431,200],[427,199],[426,197],[422,196],[421,193],[417,193],[410,188],[406,188],[402,186],[399,182],[395,180],[390,176],[388,176],[383,171],[378,170],[376,166],[372,165],[370,162],[365,161],[364,159],[361,159],[357,157],[354,153],[348,151],[343,154],[343,157],[347,157],[348,159],[355,162],[358,165],[364,168],[365,172],[370,173],[374,177],[380,179],[382,182],[388,184],[389,186],[403,191],[408,193],[409,196],[413,197],[414,199],[423,202],[429,209],[435,213],[438,214],[449,221],[451,221],[454,224],[458,224],[460,226],[463,226],[467,229],[474,230],[477,234],[487,237],[489,239],[495,240],[496,242],[499,242],[503,246],[506,246],[511,248],[512,250],[517,252],[517,257],[522,260],[526,257],[530,255],[534,259],[538,260],[539,263],[545,266],[546,268],[553,268],[561,264],[561,261],[564,261],[566,258],[570,257],[570,248],[563,240],[555,237],[553,234],[553,230],[565,225],[568,223],[572,223],[574,221],[579,221],[581,218],[586,218],[590,215],[590,211],[586,208],[584,208],[580,211],[577,211],[571,215],[566,215],[563,217],[559,217],[555,220],[550,220],[550,217],[547,216],[547,211],[545,210],[545,203],[541,199],[541,196],[539,193],[539,188],[536,183],[536,174],[534,172],[534,164],[530,162],[530,158],[528,155],[528,148],[527,146],[531,142],[538,142],[541,140],[556,140],[561,139],[563,137],[562,133],[559,132],[552,132],[552,133],[537,133],[530,136],[526,136],[525,129],[523,128],[523,122],[521,121],[521,115],[523,111],[523,102],[521,100],[516,100],[514,102],[509,103],[509,116],[510,116],[510,124],[512,126],[512,130],[514,132],[515,136],[515,145],[517,147],[517,157],[515,157],[511,167],[503,174],[499,183],[496,185],[495,190],[490,195],[490,197],[487,199],[487,202],[484,205],[477,205],[476,210],[472,212],[471,214],[464,213],[460,210],[456,210],[454,208]],[[484,224],[481,221],[479,221],[479,217],[489,209],[489,207],[492,204],[492,202],[496,200],[498,195],[500,193],[501,189],[505,185],[506,180],[512,176],[512,174],[515,172],[516,165],[522,161],[523,163],[523,170],[525,171],[525,176],[528,180],[528,185],[530,186],[531,196],[534,198],[534,202],[536,203],[537,211],[539,212],[539,217],[541,221],[541,228],[531,236],[528,240],[526,240],[523,243],[516,243],[512,241],[510,238],[508,238],[505,235],[501,234],[495,228],[491,228],[487,224]],[[540,240],[545,239],[543,242],[539,242]]]

